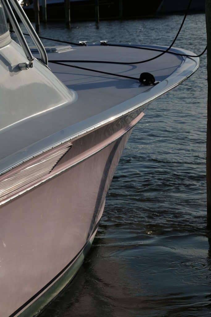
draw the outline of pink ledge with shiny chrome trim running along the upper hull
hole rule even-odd
[[[68,167],[66,167],[66,168],[64,168],[64,169],[62,169],[62,170],[60,170],[60,171],[58,171],[58,172],[56,172],[56,173],[47,174],[46,176],[48,176],[48,177],[47,177],[46,179],[41,180],[41,181],[38,180],[38,182],[37,182],[36,184],[33,184],[32,186],[29,186],[28,188],[26,188],[26,189],[20,191],[18,194],[15,194],[14,196],[12,196],[12,197],[10,197],[10,198],[6,198],[5,200],[1,201],[1,202],[0,202],[0,206],[2,206],[3,204],[6,204],[6,203],[8,203],[8,202],[10,202],[11,200],[13,200],[13,199],[15,199],[15,198],[21,196],[22,194],[24,194],[24,193],[26,193],[26,192],[28,192],[28,191],[34,189],[35,187],[37,187],[37,186],[39,186],[39,185],[41,185],[41,184],[47,182],[48,180],[50,180],[50,179],[52,179],[52,178],[58,176],[59,174],[61,174],[61,173],[65,172],[65,171],[69,170],[70,168],[72,168],[72,167],[74,167],[74,166],[76,166],[76,165],[78,165],[78,164],[84,162],[86,159],[89,159],[90,157],[92,157],[92,156],[95,155],[96,153],[102,151],[104,148],[106,148],[107,146],[109,146],[110,144],[112,144],[113,142],[115,142],[117,139],[119,139],[121,136],[123,136],[125,133],[127,133],[129,130],[131,130],[131,129],[135,126],[135,124],[136,124],[139,120],[141,120],[141,119],[143,118],[143,116],[144,116],[144,113],[141,112],[135,119],[133,119],[133,120],[131,121],[131,123],[130,123],[128,126],[126,126],[125,128],[122,128],[122,129],[121,129],[121,130],[123,131],[122,133],[118,133],[118,132],[117,132],[117,133],[114,134],[114,136],[115,136],[114,138],[112,138],[112,136],[109,137],[109,138],[108,138],[108,139],[109,139],[109,142],[106,143],[106,145],[100,146],[100,147],[97,148],[96,150],[95,150],[96,146],[93,146],[94,151],[91,152],[90,154],[84,156],[84,158],[82,158],[82,159],[80,159],[80,160],[78,160],[78,161],[76,160],[75,162],[74,162],[74,158],[73,158],[72,164],[69,165]],[[121,130],[120,130],[120,131],[121,131]],[[68,142],[69,142],[69,141],[68,141]],[[65,143],[66,143],[66,142],[65,142]],[[101,142],[101,143],[103,143],[103,142]],[[74,144],[73,144],[73,149],[74,149]],[[89,152],[89,150],[88,150],[87,152]],[[20,166],[21,166],[21,165],[19,165],[19,167],[20,167]],[[5,173],[4,175],[5,175],[5,177],[6,177],[7,173]]]

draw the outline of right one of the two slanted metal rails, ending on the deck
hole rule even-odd
[[[4,0],[4,1],[7,1],[7,0]],[[37,49],[40,53],[41,61],[48,66],[48,58],[47,58],[46,50],[45,50],[42,42],[40,41],[39,36],[37,35],[33,26],[31,25],[26,13],[22,9],[22,6],[20,5],[20,3],[17,0],[10,0],[10,2],[12,3],[14,9],[16,10],[16,12],[17,12],[19,18],[21,19],[22,23],[24,24],[25,28],[28,30],[28,33],[30,34],[35,46],[37,47]]]

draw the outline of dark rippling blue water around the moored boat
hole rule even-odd
[[[69,41],[169,45],[183,16],[41,27]],[[52,43],[44,41],[45,45]],[[205,15],[189,15],[177,47],[200,53]],[[206,56],[186,82],[153,102],[115,172],[93,246],[72,283],[41,317],[207,317]]]

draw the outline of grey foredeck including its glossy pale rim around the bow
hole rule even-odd
[[[48,53],[48,59],[49,61],[101,60],[131,63],[152,58],[160,53],[159,50],[166,49],[160,46],[153,46],[158,51],[145,48],[152,48],[152,46],[146,46],[143,49],[100,46],[99,44],[86,47],[72,46],[58,52],[52,50]],[[179,49],[171,49],[171,51],[191,54],[191,52]],[[33,55],[39,58],[39,54],[34,51]],[[199,66],[199,58],[186,58],[166,53],[152,61],[133,65],[91,62],[71,62],[69,64],[136,78],[139,78],[143,72],[149,72],[154,75],[159,84],[144,86],[138,80],[99,74],[49,62],[51,71],[69,91],[74,93],[76,98],[74,102],[65,107],[58,106],[41,115],[31,116],[27,120],[23,118],[20,124],[12,126],[5,132],[2,131],[0,146],[3,151],[0,153],[0,173],[13,166],[14,161],[18,164],[64,140],[74,138],[102,123],[115,120],[137,107],[144,107],[193,74]],[[25,131],[28,131],[29,134],[24,134]],[[16,140],[14,140],[14,134]],[[10,146],[5,146],[6,140],[9,140]],[[15,152],[18,154],[14,155]]]

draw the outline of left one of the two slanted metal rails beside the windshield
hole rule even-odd
[[[10,23],[12,24],[12,27],[13,27],[14,31],[16,32],[16,36],[18,38],[18,41],[21,44],[22,49],[23,49],[24,53],[26,54],[28,61],[30,61],[32,63],[33,55],[28,47],[28,44],[25,40],[25,37],[23,36],[21,28],[20,28],[20,26],[16,20],[16,17],[15,17],[15,15],[10,7],[10,4],[9,4],[8,0],[2,0],[2,2],[4,4],[4,8],[7,12],[8,17],[9,17]]]

